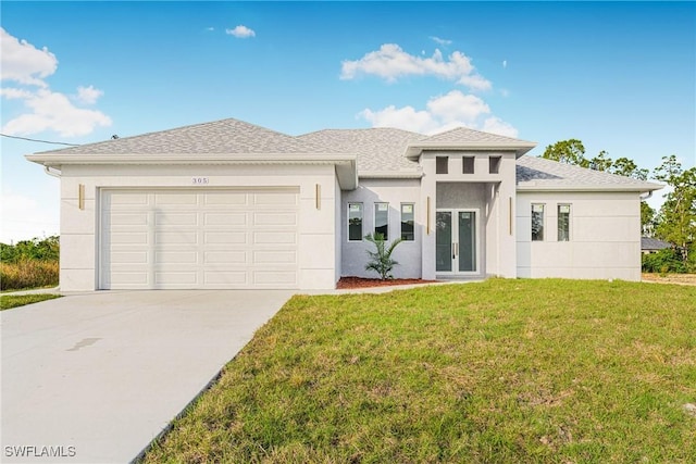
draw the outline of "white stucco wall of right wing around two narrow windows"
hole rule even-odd
[[[532,203],[544,203],[545,240],[532,241]],[[570,241],[558,241],[557,205],[571,205]],[[518,277],[641,280],[636,192],[518,192]]]

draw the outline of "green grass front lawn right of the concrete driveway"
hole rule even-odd
[[[295,297],[145,462],[685,463],[687,403],[696,287]]]

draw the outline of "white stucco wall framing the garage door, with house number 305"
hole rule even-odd
[[[206,178],[195,184],[194,178]],[[84,210],[78,208],[85,186]],[[320,206],[316,202],[320,186]],[[333,165],[63,166],[61,177],[61,290],[96,290],[99,272],[99,189],[299,187],[298,286],[335,288],[336,175]]]

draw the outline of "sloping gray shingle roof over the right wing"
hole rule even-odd
[[[535,156],[517,163],[518,190],[622,190],[652,191],[659,184],[593,171]]]

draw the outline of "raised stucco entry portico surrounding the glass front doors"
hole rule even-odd
[[[436,174],[436,158],[448,156],[447,174]],[[474,158],[474,173],[462,173],[463,156]],[[488,167],[490,156],[500,156],[497,174]],[[421,202],[431,202],[430,217],[423,223],[423,278],[434,279],[435,272],[435,212],[438,208],[469,208],[468,205],[446,206],[438,203],[437,186],[444,183],[461,183],[478,185],[483,192],[480,200],[482,206],[482,231],[485,230],[485,244],[481,253],[485,258],[481,266],[486,275],[500,277],[517,276],[515,236],[513,225],[513,208],[515,202],[515,155],[513,152],[495,151],[431,151],[421,155],[423,170]],[[442,195],[442,193],[439,193]],[[430,199],[430,200],[428,200]],[[440,198],[442,199],[442,198]],[[445,203],[447,204],[447,203]],[[430,230],[430,234],[427,231]]]

